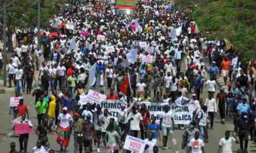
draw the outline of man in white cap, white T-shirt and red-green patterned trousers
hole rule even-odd
[[[68,108],[64,107],[63,112],[59,114],[58,118],[59,120],[57,124],[57,139],[56,142],[60,144],[60,151],[67,150],[67,147],[69,145],[69,138],[70,138],[70,131],[72,130],[71,123],[73,121],[73,117],[71,114],[68,113]],[[59,130],[59,131],[58,131]]]

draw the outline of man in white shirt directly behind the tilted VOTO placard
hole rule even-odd
[[[138,137],[138,132],[141,130],[139,125],[144,129],[142,115],[137,112],[135,106],[131,108],[131,113],[128,115],[128,124],[130,125],[130,131],[133,132],[134,137]]]

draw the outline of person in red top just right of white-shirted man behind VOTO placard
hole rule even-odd
[[[141,138],[147,138],[147,125],[150,123],[150,112],[148,111],[145,104],[141,104],[141,109],[138,110],[138,113],[141,113],[143,117],[143,125],[144,128],[141,126]]]

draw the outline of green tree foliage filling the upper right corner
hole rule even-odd
[[[256,57],[256,3],[254,0],[176,0],[191,16],[204,36],[227,39],[244,59]]]

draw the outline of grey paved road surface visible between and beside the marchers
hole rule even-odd
[[[182,66],[183,70],[184,70],[184,64]],[[104,88],[106,89],[105,92],[109,92],[109,90],[104,86]],[[99,88],[97,88],[97,90],[99,90]],[[204,94],[202,94],[202,97],[204,97],[204,99],[207,97],[207,94],[205,94],[206,92],[204,92]],[[1,126],[0,126],[0,148],[2,151],[0,152],[7,152],[9,150],[9,145],[10,142],[14,141],[16,142],[16,148],[18,148],[19,146],[19,141],[18,138],[15,137],[9,137],[8,134],[11,133],[11,116],[9,116],[8,112],[9,112],[9,97],[10,96],[14,96],[12,94],[1,94],[1,107],[0,107],[0,114],[1,114]],[[36,111],[35,111],[35,105],[34,105],[34,97],[32,97],[31,95],[23,95],[24,97],[24,103],[26,103],[29,107],[30,107],[30,119],[32,121],[32,124],[34,124],[34,130],[37,126],[37,120],[36,120]],[[191,98],[191,95],[189,96],[189,98]],[[210,141],[205,144],[205,150],[208,153],[213,153],[213,152],[217,152],[218,150],[218,141],[220,140],[220,138],[224,137],[224,133],[226,130],[233,130],[233,120],[231,117],[227,117],[226,118],[226,124],[222,125],[220,124],[220,120],[219,120],[219,116],[217,115],[217,117],[215,118],[215,122],[214,122],[214,129],[213,130],[209,130],[209,138]],[[182,130],[175,130],[175,133],[172,135],[173,138],[176,139],[177,141],[177,146],[173,146],[172,145],[172,141],[168,141],[168,150],[162,150],[160,149],[160,152],[175,152],[174,148],[176,148],[177,150],[179,150],[180,152],[185,152],[184,150],[180,150],[181,148],[181,135],[182,135],[183,131]],[[29,138],[29,143],[28,143],[28,151],[31,152],[32,147],[34,147],[36,145],[36,141],[37,141],[38,137],[33,133],[30,134],[30,138]],[[51,148],[53,148],[53,150],[55,150],[56,152],[59,152],[59,146],[56,145],[56,134],[55,133],[51,133],[48,134],[48,139],[49,142],[51,144]],[[158,141],[158,146],[161,147],[162,146],[162,142]],[[234,150],[238,149],[238,145],[234,146]],[[176,150],[175,149],[175,150]],[[101,148],[101,152],[106,152]],[[249,147],[248,147],[248,151],[249,152],[256,152],[256,145],[254,145],[253,143],[249,142]],[[73,152],[73,137],[71,137],[71,143],[68,147],[68,152]],[[235,151],[234,151],[235,152]]]

